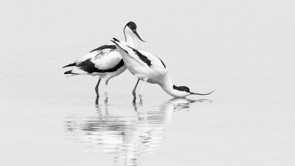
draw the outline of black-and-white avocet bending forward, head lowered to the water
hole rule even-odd
[[[144,83],[139,92],[139,97],[142,100],[142,90],[144,84],[157,83],[161,88],[173,97],[185,97],[188,95],[208,95],[190,92],[186,86],[175,86],[171,80],[170,74],[166,69],[165,64],[157,56],[143,50],[136,50],[121,41],[113,38],[113,43],[121,54],[128,70]]]

